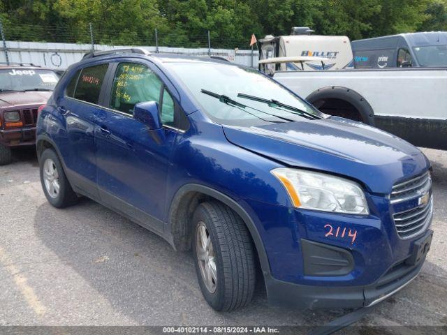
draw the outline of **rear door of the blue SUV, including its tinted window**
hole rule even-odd
[[[68,168],[68,179],[75,188],[94,199],[98,198],[94,129],[101,111],[98,101],[104,92],[108,67],[104,63],[78,70],[58,104],[59,116],[66,125],[66,135],[61,135],[58,142]]]

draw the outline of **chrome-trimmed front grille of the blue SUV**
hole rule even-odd
[[[415,237],[425,231],[430,224],[433,214],[431,188],[432,179],[429,172],[393,187],[390,195],[391,204],[421,198],[426,194],[430,197],[425,204],[418,204],[416,207],[393,214],[397,234],[402,239]]]

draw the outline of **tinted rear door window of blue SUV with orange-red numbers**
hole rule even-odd
[[[83,68],[78,79],[74,98],[87,101],[87,103],[98,103],[107,69],[108,64]]]

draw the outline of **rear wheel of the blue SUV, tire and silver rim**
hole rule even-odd
[[[43,151],[39,159],[39,166],[43,193],[53,207],[64,208],[78,201],[78,196],[71,188],[61,161],[53,149]],[[52,171],[55,171],[55,174]],[[56,184],[59,188],[56,187]]]

